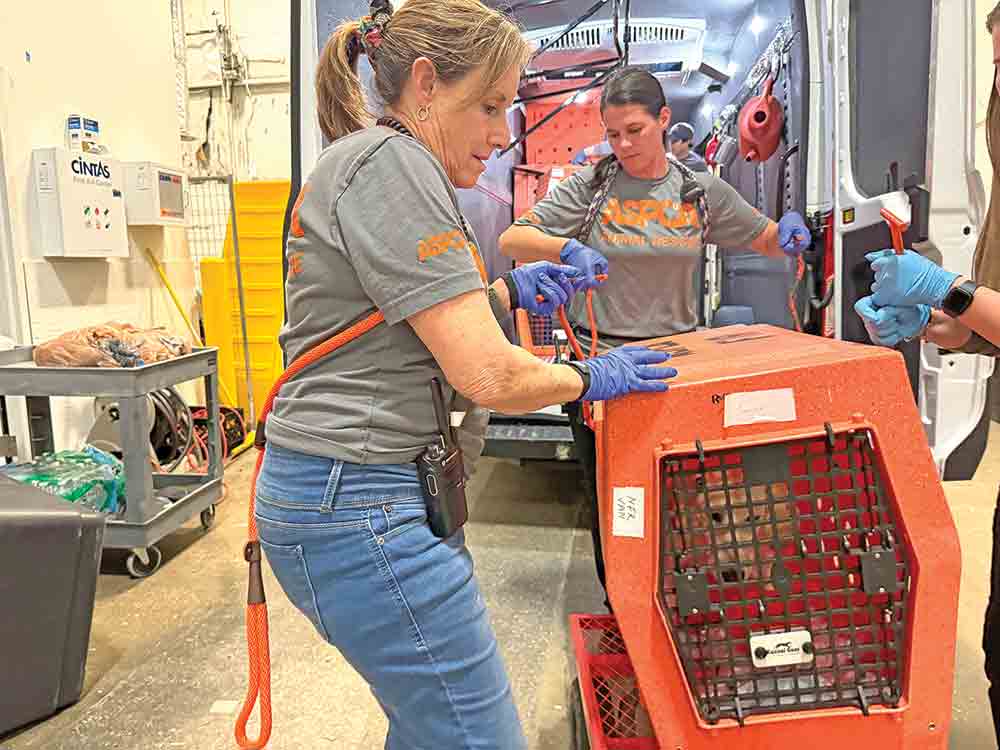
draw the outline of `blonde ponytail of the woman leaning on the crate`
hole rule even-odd
[[[358,76],[360,28],[357,21],[342,23],[320,53],[316,69],[319,127],[330,141],[367,127],[373,119]]]

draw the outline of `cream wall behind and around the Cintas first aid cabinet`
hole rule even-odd
[[[34,148],[65,143],[66,116],[99,120],[112,156],[180,164],[170,4],[104,0],[4,4],[0,23],[0,143],[22,317],[21,344],[39,343],[109,320],[165,325],[183,334],[145,250],[166,269],[181,300],[193,305],[193,267],[182,229],[132,229],[130,256],[50,262],[29,256],[29,173]],[[2,210],[2,207],[0,207]],[[2,292],[9,293],[7,289]],[[197,393],[188,394],[196,398]],[[57,449],[78,446],[93,422],[90,399],[55,399]]]

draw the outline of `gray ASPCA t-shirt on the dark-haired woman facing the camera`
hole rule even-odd
[[[597,188],[594,167],[582,169],[515,223],[575,239]],[[712,174],[698,174],[709,205],[707,240],[746,247],[767,227],[767,217]],[[683,177],[671,165],[659,180],[640,180],[618,171],[608,200],[583,240],[608,259],[608,280],[594,291],[594,317],[606,336],[653,338],[698,325],[697,289],[703,247],[697,208],[680,199]],[[570,322],[590,330],[586,298],[578,294]]]

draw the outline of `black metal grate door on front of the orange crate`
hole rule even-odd
[[[910,554],[867,430],[668,456],[660,603],[702,718],[902,697]]]

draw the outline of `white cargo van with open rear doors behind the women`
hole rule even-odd
[[[558,175],[587,145],[573,127],[586,129],[580,103],[587,99],[572,88],[625,62],[625,54],[629,64],[647,66],[661,80],[674,119],[691,123],[698,150],[712,155],[727,155],[717,147],[737,135],[739,109],[768,79],[782,104],[786,124],[773,156],[748,163],[737,155],[716,169],[772,218],[788,210],[806,216],[814,247],[801,269],[747,248],[708,248],[705,325],[732,319],[729,313],[739,310],[754,322],[867,342],[852,306],[871,283],[865,253],[891,243],[882,209],[908,224],[906,246],[953,271],[971,272],[985,214],[974,153],[975,35],[985,31],[973,0],[494,4],[510,11],[526,36],[545,47],[524,81],[524,101],[510,112],[515,136],[522,138],[544,119],[539,102],[545,102],[546,113],[553,103],[566,106],[498,155],[480,189],[462,191],[463,211],[491,275],[509,267],[497,251],[497,236],[518,208],[518,167],[540,153],[531,149],[532,138],[560,146],[551,150],[547,165],[550,175],[552,169]],[[367,3],[293,0],[292,7],[295,196],[324,146],[312,83],[318,51],[340,20],[363,15]],[[553,91],[570,93],[544,96]],[[552,129],[562,135],[554,136]],[[551,324],[543,335],[550,331]],[[942,476],[970,477],[986,444],[993,361],[920,342],[903,345],[902,352]],[[496,416],[488,438],[487,453],[494,455],[573,456],[559,409]]]

